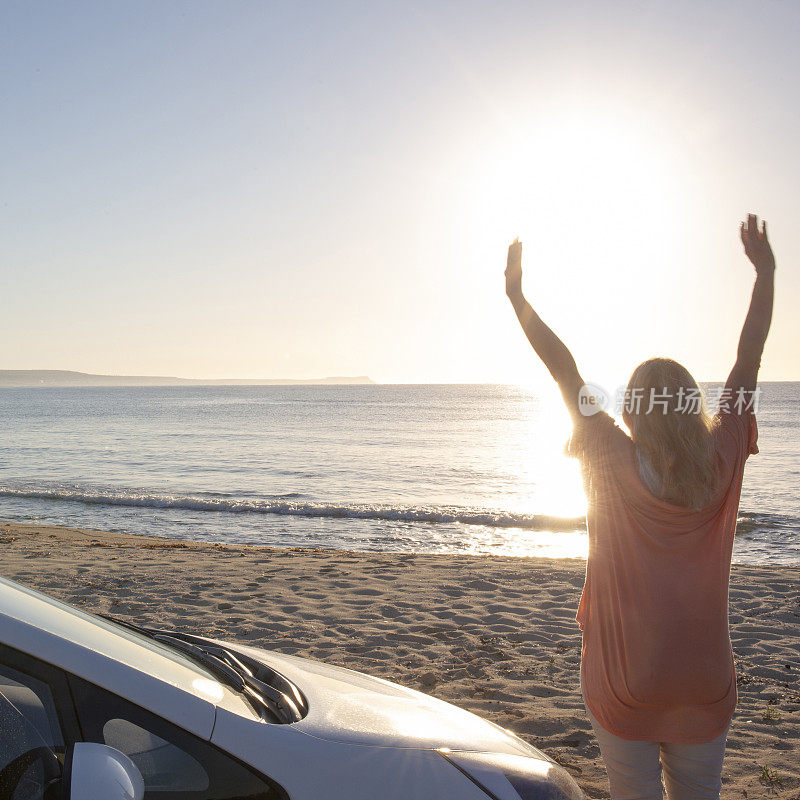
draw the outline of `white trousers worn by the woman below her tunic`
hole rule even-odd
[[[632,742],[586,713],[608,771],[612,800],[719,800],[728,731],[703,744]],[[663,785],[662,785],[663,771]]]

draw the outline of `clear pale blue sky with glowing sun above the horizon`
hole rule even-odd
[[[29,2],[0,25],[6,369],[722,379],[778,260],[800,379],[800,3]]]

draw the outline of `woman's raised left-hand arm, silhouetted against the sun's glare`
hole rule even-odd
[[[536,355],[550,370],[570,414],[577,419],[579,416],[578,392],[583,386],[583,379],[567,346],[542,322],[522,294],[522,243],[517,239],[508,248],[506,294],[511,305],[514,306],[517,319],[519,319],[528,341],[536,351]]]

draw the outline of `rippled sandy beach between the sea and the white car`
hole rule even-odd
[[[307,656],[510,728],[588,797],[608,782],[579,694],[584,563],[194,544],[0,523],[0,574],[90,611]],[[800,798],[800,568],[734,567],[739,706],[723,798]]]

